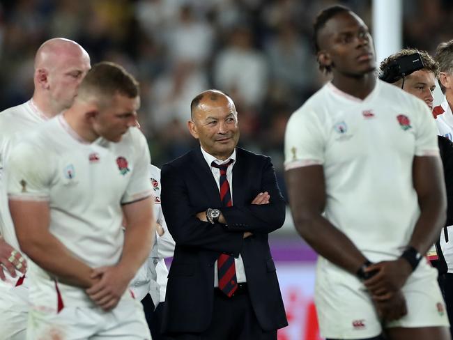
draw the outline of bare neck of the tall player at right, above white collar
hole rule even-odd
[[[374,72],[369,72],[361,77],[351,77],[337,73],[332,79],[332,84],[344,93],[363,100],[376,86],[376,75]]]

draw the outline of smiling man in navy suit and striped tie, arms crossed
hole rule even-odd
[[[238,114],[217,90],[190,105],[200,148],[162,167],[176,242],[162,330],[169,339],[267,340],[288,325],[268,233],[285,217],[270,158],[236,148]]]

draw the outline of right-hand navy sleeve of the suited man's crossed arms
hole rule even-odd
[[[263,162],[261,171],[263,176],[260,191],[270,194],[270,202],[261,205],[249,203],[244,206],[233,203],[229,208],[222,208],[229,230],[270,233],[283,225],[286,204],[277,185],[275,170],[269,157]]]

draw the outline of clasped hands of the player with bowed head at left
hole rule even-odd
[[[91,300],[105,311],[116,307],[132,278],[119,265],[93,269],[91,279],[99,279],[86,289]]]

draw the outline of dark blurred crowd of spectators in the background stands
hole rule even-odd
[[[341,3],[371,27],[371,0],[1,0],[0,109],[31,98],[33,58],[49,38],[76,40],[141,84],[139,121],[153,164],[197,146],[190,101],[218,88],[236,102],[240,146],[272,157],[283,183],[284,128],[326,81],[312,22]],[[404,0],[404,46],[432,53],[452,38],[453,1]]]

